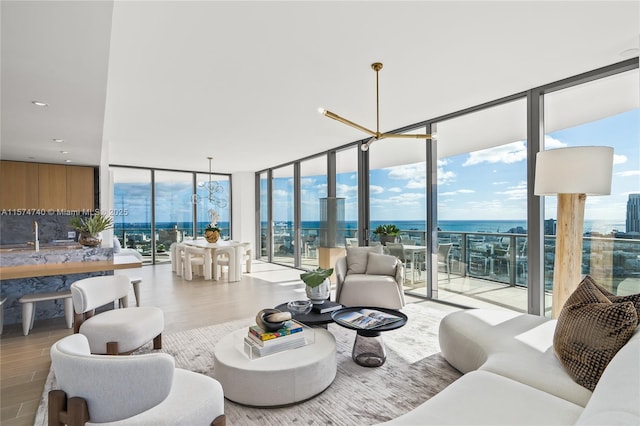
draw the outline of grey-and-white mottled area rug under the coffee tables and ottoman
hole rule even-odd
[[[402,309],[408,323],[383,333],[387,361],[378,368],[361,367],[351,359],[355,332],[329,324],[336,337],[338,371],[320,395],[297,405],[252,408],[225,400],[229,425],[372,425],[398,417],[452,383],[460,373],[440,355],[438,324],[447,313],[433,304],[415,303]],[[231,331],[253,324],[251,318],[162,336],[163,349],[176,366],[213,376],[213,349]],[[151,345],[140,353],[152,351]],[[55,388],[49,372],[35,425],[47,424],[47,393]]]

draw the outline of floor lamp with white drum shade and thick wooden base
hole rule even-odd
[[[587,195],[611,193],[613,148],[580,146],[542,151],[536,157],[535,195],[557,195],[552,318],[582,279],[582,234]]]

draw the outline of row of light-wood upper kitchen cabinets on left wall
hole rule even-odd
[[[93,210],[94,168],[2,161],[0,209]]]

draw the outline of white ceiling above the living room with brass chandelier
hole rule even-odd
[[[620,62],[640,35],[639,1],[3,0],[1,14],[2,159],[206,171],[213,156],[225,173],[364,138],[317,109],[375,128],[375,61],[385,131]]]

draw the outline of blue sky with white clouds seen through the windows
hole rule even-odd
[[[640,110],[549,134],[547,149],[565,146],[614,147],[612,193],[588,197],[585,219],[623,223],[629,193],[640,193]],[[375,145],[372,146],[375,149]],[[425,217],[425,164],[371,171],[371,219],[416,220]],[[303,220],[318,220],[318,199],[326,196],[326,177],[303,178]],[[274,217],[292,220],[292,180],[274,182]],[[346,218],[357,217],[355,174],[338,176],[338,196],[346,197]],[[442,159],[438,163],[440,220],[526,219],[526,145],[523,141]],[[157,220],[190,221],[190,185],[158,183]],[[225,194],[228,194],[228,186]],[[128,222],[145,222],[150,214],[149,184],[116,184],[114,207],[128,207]],[[546,197],[545,216],[555,218],[555,197]],[[221,221],[228,220],[228,208]],[[206,215],[201,209],[199,216]],[[118,218],[115,218],[119,223]]]

